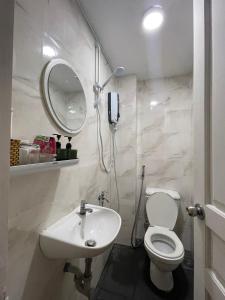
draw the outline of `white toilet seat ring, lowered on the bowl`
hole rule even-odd
[[[165,227],[149,227],[144,238],[145,248],[156,258],[177,262],[184,257],[184,247],[174,231]]]

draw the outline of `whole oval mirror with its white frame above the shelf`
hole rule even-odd
[[[52,120],[70,135],[85,122],[86,97],[72,66],[62,59],[50,61],[43,74],[43,94]]]

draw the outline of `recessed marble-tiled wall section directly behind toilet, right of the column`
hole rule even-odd
[[[146,166],[145,186],[181,194],[177,231],[192,250],[192,220],[185,206],[193,193],[192,76],[139,81],[137,84],[137,172]],[[138,196],[138,195],[137,195]],[[143,208],[140,224],[143,220]],[[139,226],[139,230],[143,225]]]

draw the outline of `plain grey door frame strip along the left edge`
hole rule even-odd
[[[14,0],[0,1],[0,300],[7,294],[9,144],[12,93]]]

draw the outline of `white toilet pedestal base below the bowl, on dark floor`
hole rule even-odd
[[[150,278],[152,283],[161,291],[170,292],[173,289],[172,272],[162,272],[154,263],[150,263]]]

